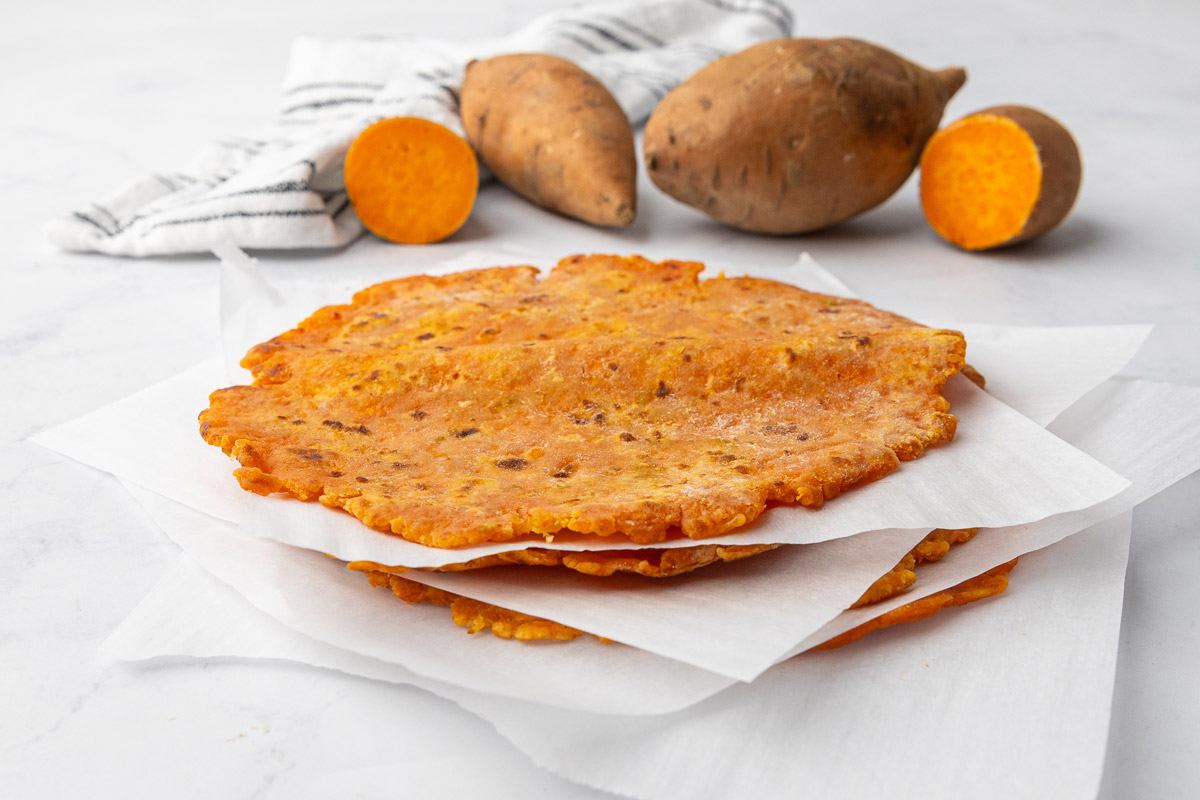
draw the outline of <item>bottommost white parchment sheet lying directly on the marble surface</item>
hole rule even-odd
[[[538,765],[634,798],[823,800],[887,786],[890,800],[1012,800],[1034,787],[1085,800],[1104,759],[1128,546],[1122,515],[1025,557],[998,599],[725,691],[654,664],[632,681],[635,696],[713,694],[660,716],[612,714],[641,711],[623,693],[610,709],[564,710],[336,648],[281,625],[187,555],[107,648],[127,660],[280,658],[414,684],[487,720]],[[594,691],[592,676],[578,676],[576,693]],[[402,784],[401,768],[378,769]]]

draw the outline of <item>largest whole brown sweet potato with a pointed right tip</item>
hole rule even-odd
[[[900,188],[965,79],[858,40],[762,42],[662,100],[646,125],[647,172],[734,228],[826,228]]]

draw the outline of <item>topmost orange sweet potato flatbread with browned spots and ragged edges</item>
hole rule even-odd
[[[715,536],[953,437],[961,335],[698,271],[598,257],[382,284],[254,348],[254,385],[214,392],[202,435],[251,492],[436,547]]]

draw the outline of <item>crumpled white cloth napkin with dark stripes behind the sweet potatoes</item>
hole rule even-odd
[[[569,59],[637,125],[703,65],[791,29],[780,0],[650,0],[558,11],[474,41],[300,38],[274,122],[55,219],[47,234],[65,249],[115,255],[208,252],[230,241],[247,249],[341,247],[364,230],[342,180],[354,137],[389,116],[422,116],[461,134],[458,86],[472,59]]]

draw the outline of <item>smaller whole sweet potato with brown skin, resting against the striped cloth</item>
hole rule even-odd
[[[634,130],[583,68],[544,53],[472,61],[461,113],[480,160],[522,197],[595,225],[634,221]]]

